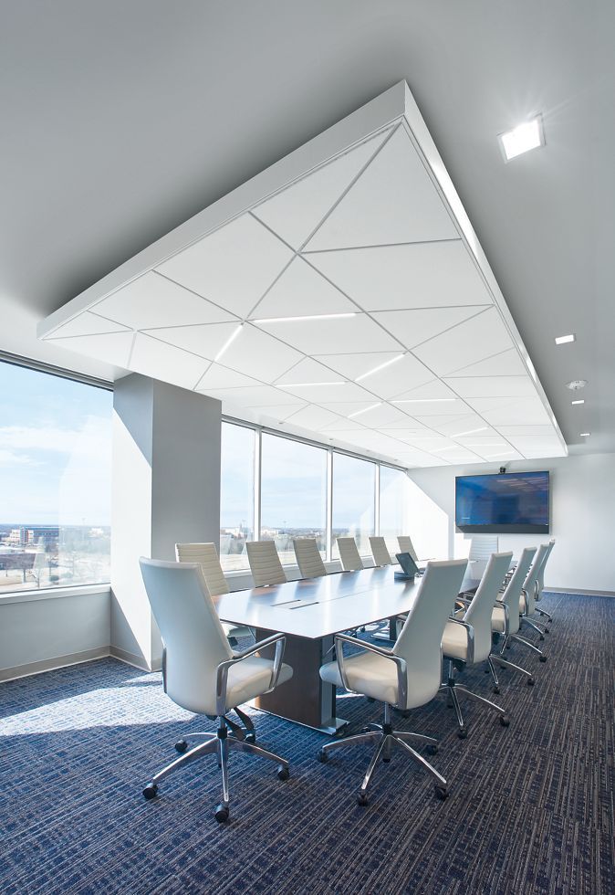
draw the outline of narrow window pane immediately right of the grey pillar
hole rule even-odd
[[[247,569],[245,542],[254,532],[254,429],[222,424],[220,562],[226,571]]]

